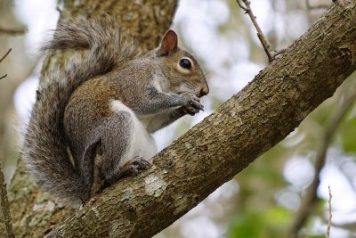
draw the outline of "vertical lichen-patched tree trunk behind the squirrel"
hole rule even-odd
[[[65,0],[60,21],[70,21],[72,16],[77,14],[87,16],[107,13],[115,16],[117,21],[121,22],[122,29],[128,30],[137,39],[142,51],[157,47],[172,22],[177,0],[144,1],[144,7],[142,7],[143,1],[135,1],[135,4],[132,2],[130,0]],[[59,53],[47,56],[42,72],[63,62],[64,57],[66,54]],[[42,84],[43,81],[40,82],[40,86]],[[21,162],[12,177],[8,195],[17,237],[42,237],[75,212],[74,209],[63,208],[61,202],[53,200],[47,193],[42,193],[28,176]],[[3,223],[0,223],[0,237],[5,236]]]

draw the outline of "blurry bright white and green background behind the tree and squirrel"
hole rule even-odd
[[[34,103],[42,58],[38,48],[48,29],[55,29],[59,14],[55,0],[0,2],[0,28],[28,29],[25,36],[0,33],[0,56],[12,53],[0,64],[0,159],[9,181],[18,158],[20,136]],[[252,0],[263,32],[276,49],[300,37],[326,8],[308,9],[307,1]],[[311,0],[310,4],[331,4]],[[234,0],[182,0],[173,29],[180,45],[195,53],[206,69],[210,94],[204,112],[186,116],[155,136],[159,149],[204,119],[220,104],[237,94],[268,65],[251,21]],[[283,237],[295,218],[306,188],[314,176],[316,152],[330,127],[335,111],[349,90],[352,75],[336,92],[305,119],[300,127],[262,158],[226,183],[157,238],[163,237]],[[354,92],[353,92],[354,93]],[[330,237],[356,237],[356,107],[338,128],[320,173],[320,201],[301,231],[302,237],[324,237],[328,222],[328,185],[333,194],[333,226]],[[222,171],[223,172],[223,171]]]

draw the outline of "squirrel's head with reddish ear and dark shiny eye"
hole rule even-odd
[[[161,69],[173,93],[190,92],[198,97],[209,93],[204,71],[194,56],[178,47],[178,37],[169,29],[156,51]]]

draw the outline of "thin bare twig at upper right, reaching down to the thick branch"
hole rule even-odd
[[[276,58],[276,56],[279,55],[280,53],[283,53],[284,50],[279,52],[275,52],[271,50],[271,43],[268,41],[267,37],[264,36],[262,29],[258,25],[254,12],[252,12],[251,10],[250,1],[248,0],[236,0],[236,1],[239,4],[239,7],[242,10],[244,10],[245,13],[248,14],[248,16],[250,17],[252,23],[255,26],[255,29],[257,30],[257,37],[261,41],[261,44],[263,45],[264,52],[267,54],[268,61],[272,62]],[[242,1],[245,5],[241,4],[240,1]]]

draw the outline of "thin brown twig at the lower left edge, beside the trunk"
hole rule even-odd
[[[9,206],[9,201],[7,200],[6,184],[4,183],[4,174],[3,174],[3,168],[1,165],[1,161],[0,161],[0,192],[1,192],[1,195],[0,195],[1,210],[3,213],[3,217],[4,217],[4,225],[6,228],[7,237],[14,238],[15,235],[13,233],[13,228],[12,228],[10,206]]]

